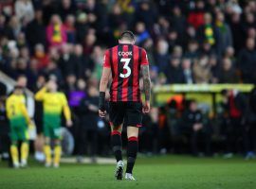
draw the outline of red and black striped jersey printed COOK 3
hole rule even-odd
[[[139,72],[141,65],[148,65],[147,53],[133,44],[119,44],[107,49],[103,67],[112,71],[110,101],[141,101]]]

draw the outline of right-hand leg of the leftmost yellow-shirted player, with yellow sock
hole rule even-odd
[[[29,153],[29,141],[28,141],[28,132],[27,126],[20,128],[20,140],[22,141],[21,145],[21,166],[27,166],[27,158]]]

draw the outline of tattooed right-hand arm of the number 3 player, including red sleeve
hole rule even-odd
[[[142,50],[141,58],[141,73],[143,78],[143,90],[145,93],[145,104],[143,106],[143,112],[150,112],[150,98],[151,98],[151,79],[149,71],[149,62],[147,59],[146,51]]]

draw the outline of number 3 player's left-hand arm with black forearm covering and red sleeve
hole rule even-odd
[[[99,99],[99,115],[104,117],[105,112],[105,93],[107,89],[108,80],[111,74],[111,66],[109,62],[109,51],[107,50],[103,61],[103,70],[100,82],[100,99]]]

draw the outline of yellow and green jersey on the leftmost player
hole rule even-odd
[[[19,127],[27,125],[29,120],[24,95],[11,94],[6,103],[7,116],[11,126]]]

